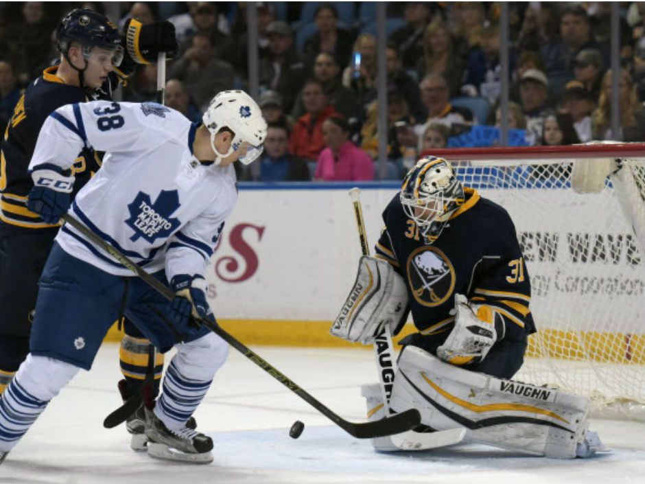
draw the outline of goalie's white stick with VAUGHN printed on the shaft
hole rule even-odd
[[[361,251],[363,255],[370,255],[370,249],[365,232],[365,222],[363,219],[363,209],[360,203],[360,188],[354,187],[349,190],[349,196],[354,205],[354,216],[356,218],[356,227],[358,229],[358,238],[360,239]],[[392,347],[392,335],[390,327],[387,325],[381,330],[374,343],[374,356],[379,369],[379,383],[381,387],[381,396],[385,407],[386,415],[390,415],[390,396],[392,395],[392,385],[394,376],[397,371],[397,363],[392,356],[394,348]],[[386,377],[390,377],[386,380]],[[409,431],[390,435],[390,441],[401,450],[428,450],[432,448],[452,446],[459,443],[465,438],[466,429],[456,428],[451,430],[436,430],[433,432],[414,432],[412,428]]]

